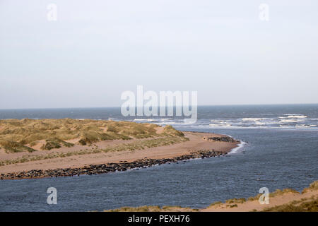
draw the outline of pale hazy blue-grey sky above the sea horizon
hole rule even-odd
[[[199,105],[317,103],[317,9],[317,0],[0,0],[0,109],[120,106],[136,85],[196,90]]]

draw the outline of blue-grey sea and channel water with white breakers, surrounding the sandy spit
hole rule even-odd
[[[93,176],[0,181],[0,211],[88,211],[122,206],[189,206],[255,196],[318,179],[318,105],[204,106],[196,124],[182,118],[122,117],[119,108],[0,110],[9,118],[113,119],[172,124],[183,131],[215,132],[245,141],[227,157]],[[1,167],[0,167],[1,172]],[[57,189],[48,205],[47,188]]]

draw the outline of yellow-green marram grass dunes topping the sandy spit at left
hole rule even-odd
[[[159,131],[159,132],[158,132]],[[7,153],[92,145],[98,141],[134,138],[183,137],[172,126],[130,121],[93,119],[5,119],[0,120],[0,146]]]

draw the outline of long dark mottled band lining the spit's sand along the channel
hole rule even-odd
[[[7,174],[0,174],[0,179],[35,179],[44,177],[72,177],[80,176],[83,174],[104,174],[108,172],[126,171],[127,169],[139,169],[151,167],[154,165],[161,165],[171,162],[180,162],[184,160],[206,158],[206,157],[220,157],[227,153],[217,150],[201,150],[198,152],[192,152],[188,155],[181,155],[173,158],[163,159],[148,159],[136,160],[134,162],[119,162],[119,163],[107,163],[100,165],[88,165],[78,168],[65,168],[65,169],[33,169],[30,171],[14,172]]]

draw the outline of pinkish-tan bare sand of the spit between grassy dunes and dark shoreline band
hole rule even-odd
[[[35,160],[29,162],[21,162],[17,164],[0,166],[0,174],[8,174],[13,172],[30,171],[33,169],[61,169],[61,168],[77,168],[88,165],[100,165],[107,163],[134,162],[141,159],[166,159],[182,155],[188,155],[201,150],[217,150],[222,153],[228,153],[232,148],[237,147],[239,142],[211,141],[209,137],[227,137],[216,133],[196,133],[184,132],[184,137],[189,141],[176,143],[172,145],[163,145],[155,148],[144,148],[140,150],[122,150],[107,153],[93,153],[86,155],[72,155],[69,157],[57,157],[46,160]],[[113,140],[100,141],[94,143],[93,146],[74,145],[71,148],[55,148],[49,151],[36,151],[28,153],[28,157],[38,157],[47,155],[48,153],[73,153],[78,150],[98,150],[102,148],[110,148],[119,144],[129,144],[136,141],[151,140],[152,138],[141,138],[132,140]],[[6,153],[0,150],[0,161],[14,160],[25,156],[25,153]]]

